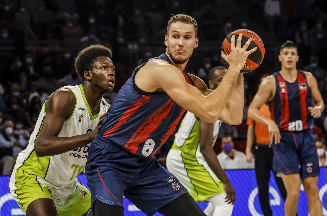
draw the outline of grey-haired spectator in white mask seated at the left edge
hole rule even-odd
[[[26,147],[27,141],[21,135],[14,134],[14,123],[7,120],[0,132],[0,167],[2,175],[10,175],[18,153]]]

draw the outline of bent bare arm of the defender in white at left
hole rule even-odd
[[[99,126],[88,134],[81,134],[74,137],[58,137],[65,119],[73,113],[75,103],[75,96],[68,89],[55,91],[46,101],[46,115],[34,145],[34,151],[38,157],[59,155],[84,146],[92,142],[95,138]],[[105,114],[100,116],[100,119],[102,117],[102,121],[104,116]],[[99,125],[101,125],[102,121],[99,121]],[[71,130],[74,129],[71,128]]]

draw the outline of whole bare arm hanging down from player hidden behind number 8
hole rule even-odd
[[[199,145],[200,152],[203,155],[205,161],[208,163],[210,169],[215,173],[217,178],[224,184],[224,190],[226,193],[226,202],[228,204],[235,202],[235,191],[229,181],[225,171],[221,168],[215,151],[212,149],[213,139],[213,123],[207,123],[203,120],[199,120]]]

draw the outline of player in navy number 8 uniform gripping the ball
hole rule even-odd
[[[170,18],[164,39],[166,53],[135,68],[112,102],[89,150],[86,177],[95,216],[122,216],[123,196],[146,215],[203,215],[178,178],[152,157],[188,110],[206,122],[242,122],[243,68],[257,48],[241,47],[232,36],[229,63],[214,91],[185,66],[198,46],[197,22],[178,14]],[[226,197],[233,200],[234,197]]]

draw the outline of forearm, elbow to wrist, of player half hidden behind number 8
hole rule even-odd
[[[212,148],[207,148],[207,149],[202,149],[201,153],[202,153],[205,161],[209,165],[210,169],[217,176],[217,178],[219,178],[219,180],[224,184],[229,182],[229,179],[228,179],[225,171],[220,166],[220,163],[216,156],[215,151]]]

